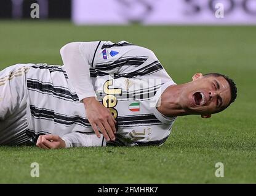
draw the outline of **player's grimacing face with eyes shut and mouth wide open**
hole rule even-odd
[[[203,77],[198,73],[186,84],[182,95],[182,106],[189,113],[206,117],[222,111],[231,100],[230,85],[223,77]]]

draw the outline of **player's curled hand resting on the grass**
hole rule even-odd
[[[57,149],[65,148],[66,143],[58,135],[40,135],[38,141],[36,141],[36,146],[44,149]]]

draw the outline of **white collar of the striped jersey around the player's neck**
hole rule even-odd
[[[170,117],[162,115],[156,108],[156,104],[158,103],[158,100],[161,97],[162,92],[164,92],[169,86],[172,86],[172,85],[176,85],[176,83],[174,83],[174,81],[172,81],[172,80],[164,83],[161,86],[161,88],[159,88],[158,91],[156,91],[156,94],[154,95],[153,100],[151,100],[151,102],[150,102],[150,107],[151,107],[152,112],[154,113],[154,116],[156,116],[156,118],[158,118],[159,121],[161,121],[162,123],[165,123],[165,124],[173,123],[177,117],[170,118]]]

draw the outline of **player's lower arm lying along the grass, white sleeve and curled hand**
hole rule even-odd
[[[106,140],[103,135],[98,138],[95,134],[82,134],[73,132],[64,135],[62,138],[58,135],[40,135],[36,146],[43,149],[72,148],[72,147],[89,147],[105,146]]]

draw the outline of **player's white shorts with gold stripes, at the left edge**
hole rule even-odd
[[[0,145],[27,145],[26,74],[33,64],[16,64],[0,72]]]

